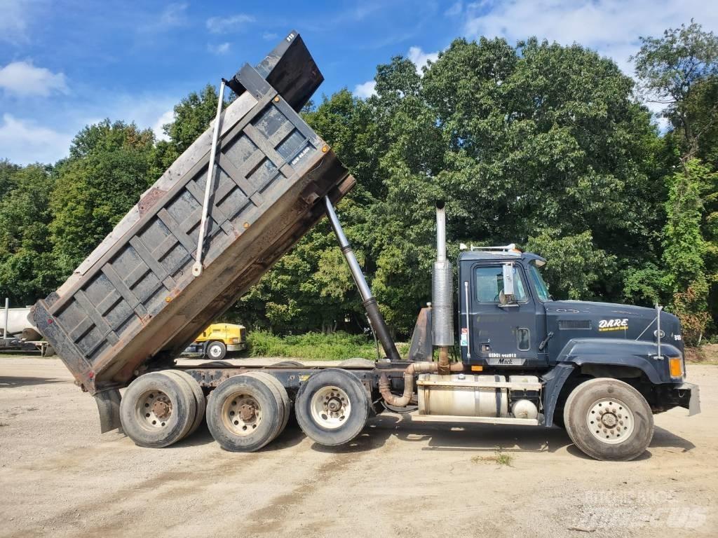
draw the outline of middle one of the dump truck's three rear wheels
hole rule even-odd
[[[241,374],[225,379],[210,392],[207,426],[230,452],[254,452],[276,437],[284,423],[284,405],[274,384]]]

